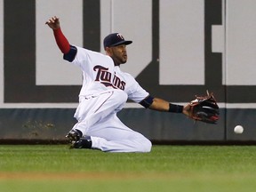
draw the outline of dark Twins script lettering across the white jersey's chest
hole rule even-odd
[[[98,70],[95,81],[100,81],[100,83],[104,84],[105,86],[112,86],[115,89],[124,90],[125,82],[116,76],[116,73],[113,77],[113,81],[111,82],[112,74],[108,71],[108,68],[97,65],[93,68],[93,70]]]

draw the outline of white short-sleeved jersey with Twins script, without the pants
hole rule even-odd
[[[76,58],[72,63],[83,71],[81,96],[97,95],[108,92],[109,89],[123,90],[127,93],[128,99],[137,103],[148,96],[148,92],[142,89],[130,74],[124,73],[119,66],[115,66],[108,55],[77,46],[76,48]]]

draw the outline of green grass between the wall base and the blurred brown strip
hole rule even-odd
[[[0,172],[255,174],[255,146],[154,146],[151,153],[103,153],[53,146],[0,146]]]

